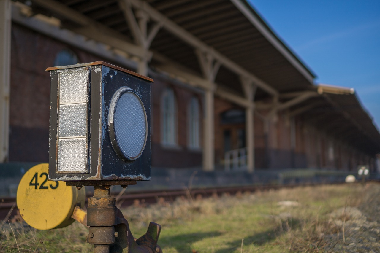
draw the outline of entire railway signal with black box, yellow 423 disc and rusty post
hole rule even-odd
[[[21,213],[39,229],[62,228],[74,217],[89,226],[87,242],[94,252],[162,252],[157,245],[161,226],[150,223],[135,241],[116,198],[109,194],[111,185],[150,180],[153,80],[105,62],[46,71],[51,78],[49,173],[47,164],[40,164],[22,178],[17,190],[17,203],[25,207]],[[48,179],[55,182],[49,184]],[[94,186],[87,214],[76,206],[84,203],[78,197],[83,185]],[[65,201],[58,203],[62,197]],[[44,198],[49,209],[40,215]]]

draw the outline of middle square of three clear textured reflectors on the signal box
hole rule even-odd
[[[59,137],[87,135],[87,104],[64,104],[59,106]]]

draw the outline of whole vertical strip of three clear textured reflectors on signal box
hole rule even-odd
[[[88,173],[88,87],[88,68],[59,72],[58,173]]]

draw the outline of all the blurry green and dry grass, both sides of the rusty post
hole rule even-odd
[[[324,235],[340,229],[329,223],[329,213],[339,207],[357,206],[362,191],[359,184],[299,187],[177,199],[122,211],[135,237],[146,232],[150,221],[160,224],[158,244],[164,253],[324,252],[323,246],[329,243],[323,241]],[[285,200],[300,205],[278,205]],[[87,228],[79,223],[52,231],[11,225],[15,236],[5,225],[0,229],[0,252],[19,252],[17,245],[21,252],[92,251],[85,242]]]

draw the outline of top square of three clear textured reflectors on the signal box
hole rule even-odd
[[[59,73],[59,104],[86,103],[89,71]]]

